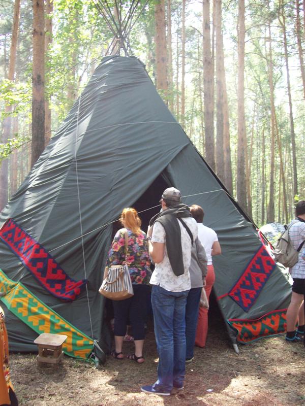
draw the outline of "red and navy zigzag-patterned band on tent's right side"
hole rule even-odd
[[[262,245],[227,295],[249,312],[275,267],[275,261]]]

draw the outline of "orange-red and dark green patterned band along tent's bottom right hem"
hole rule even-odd
[[[267,335],[283,334],[286,331],[286,311],[275,310],[256,320],[229,319],[227,322],[237,332],[236,340],[247,344]]]

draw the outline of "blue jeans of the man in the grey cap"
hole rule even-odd
[[[158,380],[153,387],[171,391],[183,386],[186,374],[186,303],[189,291],[169,292],[154,285],[151,304],[159,353]]]

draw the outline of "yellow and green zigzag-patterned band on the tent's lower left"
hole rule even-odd
[[[65,354],[74,358],[87,358],[93,350],[93,340],[63,319],[26,289],[21,282],[9,279],[0,269],[0,299],[6,307],[38,334],[66,334]]]

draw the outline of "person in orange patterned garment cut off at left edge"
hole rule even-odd
[[[4,323],[4,311],[0,306],[0,405],[18,406],[18,400],[10,379],[9,342]]]

